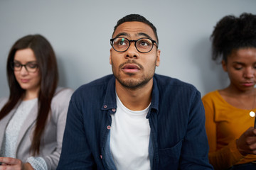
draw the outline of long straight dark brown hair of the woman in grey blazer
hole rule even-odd
[[[41,137],[46,127],[46,122],[50,115],[50,103],[58,86],[58,67],[50,42],[42,35],[26,35],[17,40],[11,47],[7,59],[7,79],[9,83],[10,96],[5,106],[0,111],[0,120],[8,115],[21,101],[26,90],[22,89],[15,78],[14,70],[11,69],[11,62],[14,62],[14,55],[17,50],[30,48],[36,56],[41,74],[41,85],[38,92],[38,115],[36,118],[36,127],[33,132],[31,152],[35,156],[40,152]]]

